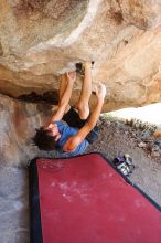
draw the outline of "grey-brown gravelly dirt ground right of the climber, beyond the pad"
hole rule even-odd
[[[100,119],[99,138],[86,152],[99,151],[109,161],[129,154],[136,166],[129,179],[161,205],[161,147],[157,139],[118,120]]]

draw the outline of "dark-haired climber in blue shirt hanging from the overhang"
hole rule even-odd
[[[61,158],[77,156],[98,138],[99,118],[106,87],[99,83],[95,87],[97,103],[89,114],[89,97],[92,95],[92,63],[85,62],[84,82],[76,109],[71,107],[69,99],[76,72],[68,72],[60,76],[60,102],[56,113],[50,122],[36,129],[34,144],[41,150],[58,150]]]

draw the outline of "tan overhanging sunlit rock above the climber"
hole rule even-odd
[[[57,92],[57,73],[95,61],[105,112],[161,101],[161,0],[1,0],[0,11],[1,93]],[[73,104],[79,89],[78,78]]]

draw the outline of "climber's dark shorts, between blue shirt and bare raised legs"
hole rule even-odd
[[[71,109],[63,116],[63,120],[67,123],[68,126],[75,128],[82,128],[88,122],[87,119],[80,119],[78,113],[71,107]],[[87,135],[86,139],[89,144],[93,144],[98,138],[98,126],[96,125],[93,130]]]

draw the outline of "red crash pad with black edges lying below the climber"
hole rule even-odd
[[[161,243],[159,207],[101,155],[39,158],[31,171],[37,187],[33,192],[37,196],[31,196],[31,213],[40,211],[40,219],[31,216],[31,242]]]

